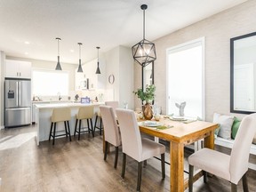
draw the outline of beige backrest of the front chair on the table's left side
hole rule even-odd
[[[121,132],[123,152],[140,162],[142,143],[134,111],[130,109],[116,108],[116,116]]]

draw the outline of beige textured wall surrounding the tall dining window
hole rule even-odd
[[[214,112],[230,114],[230,48],[235,36],[256,31],[256,1],[249,0],[227,11],[201,20],[187,28],[156,39],[156,102],[166,111],[166,49],[205,36],[205,118],[212,121]],[[170,20],[172,22],[172,20]],[[138,64],[135,64],[138,65]],[[135,88],[140,86],[140,68],[134,68]],[[139,84],[139,85],[138,85]],[[138,99],[135,98],[138,107]],[[237,115],[242,117],[242,115]]]

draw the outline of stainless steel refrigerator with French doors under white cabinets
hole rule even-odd
[[[4,127],[24,126],[31,123],[30,79],[5,78]]]

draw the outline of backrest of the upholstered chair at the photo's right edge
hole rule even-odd
[[[256,113],[245,116],[240,124],[230,156],[230,181],[237,183],[248,170],[253,136],[256,133]]]

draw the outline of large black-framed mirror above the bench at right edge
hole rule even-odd
[[[230,39],[230,112],[256,112],[256,32]]]

